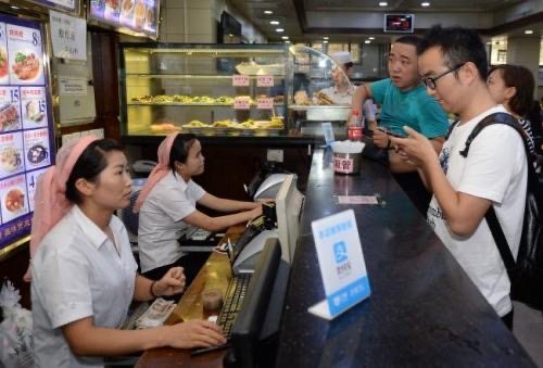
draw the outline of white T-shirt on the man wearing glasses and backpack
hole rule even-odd
[[[517,256],[522,230],[527,188],[527,160],[520,135],[508,126],[488,126],[473,139],[467,157],[459,154],[476,125],[500,105],[456,126],[443,144],[440,163],[454,190],[492,201],[496,216]],[[428,208],[428,223],[454,255],[471,281],[500,316],[512,310],[509,278],[500,251],[483,218],[469,237],[454,233],[435,196]]]

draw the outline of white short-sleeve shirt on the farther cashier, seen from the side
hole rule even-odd
[[[205,190],[169,172],[151,190],[139,211],[138,248],[141,271],[173,264],[184,255],[177,240],[190,226],[182,219],[197,211]]]

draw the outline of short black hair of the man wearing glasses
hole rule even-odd
[[[417,53],[425,53],[428,49],[438,47],[445,61],[445,65],[455,68],[471,62],[479,71],[479,77],[487,80],[489,64],[487,50],[479,35],[471,29],[463,27],[446,27],[435,25],[425,35]]]

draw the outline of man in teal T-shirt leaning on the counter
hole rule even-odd
[[[358,87],[353,96],[353,109],[361,109],[366,99],[372,98],[382,105],[379,128],[394,135],[405,136],[403,126],[408,126],[429,138],[435,152],[441,150],[449,120],[443,109],[426,93],[420,81],[417,65],[417,46],[420,38],[400,37],[389,53],[390,78]],[[378,129],[377,123],[368,124],[372,130],[374,143],[390,148],[390,135]],[[420,181],[417,169],[389,151],[390,169],[404,192],[417,210],[426,216],[431,194]]]

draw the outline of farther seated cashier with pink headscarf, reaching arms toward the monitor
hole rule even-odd
[[[209,231],[226,229],[262,215],[261,203],[216,198],[192,181],[204,172],[202,147],[194,135],[169,135],[159,147],[159,165],[149,176],[135,206],[139,215],[138,246],[141,270],[157,280],[171,267],[185,268],[187,285],[205,258],[181,252],[178,239],[190,226]],[[195,204],[220,212],[237,212],[210,217]]]

